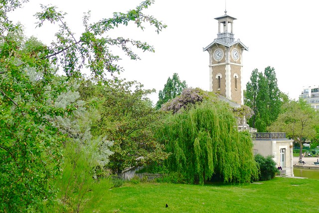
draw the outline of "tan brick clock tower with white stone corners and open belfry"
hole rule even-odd
[[[203,51],[209,52],[209,90],[225,96],[238,104],[244,104],[242,83],[242,53],[248,50],[239,39],[235,41],[233,21],[227,15],[218,20],[218,34]]]

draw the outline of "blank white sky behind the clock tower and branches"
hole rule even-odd
[[[68,14],[65,20],[80,35],[83,12],[91,10],[91,21],[112,17],[113,12],[126,12],[142,0],[30,0],[11,15],[25,26],[27,36],[34,35],[49,44],[56,28],[50,23],[35,28],[32,16],[40,3],[53,4]],[[227,0],[227,14],[234,21],[235,40],[249,47],[243,53],[243,86],[253,69],[275,68],[278,86],[292,99],[298,99],[303,86],[319,85],[318,0]],[[152,44],[156,52],[141,52],[140,61],[126,56],[120,65],[123,78],[137,80],[146,89],[162,90],[174,72],[189,87],[209,90],[209,58],[206,47],[217,37],[215,17],[224,14],[225,0],[156,0],[144,13],[154,15],[167,28],[160,34],[148,25],[145,31],[129,25],[114,30],[112,35],[134,38]],[[158,94],[150,98],[154,103]]]

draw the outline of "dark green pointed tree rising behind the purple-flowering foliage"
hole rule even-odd
[[[156,104],[156,108],[160,109],[162,104],[180,95],[186,87],[186,82],[180,81],[177,73],[174,73],[172,78],[168,77],[163,90],[159,92],[159,101]]]

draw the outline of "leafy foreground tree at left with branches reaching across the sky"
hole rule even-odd
[[[46,46],[36,38],[25,39],[22,26],[7,17],[7,12],[27,1],[0,1],[0,209],[3,212],[42,212],[43,201],[50,203],[55,197],[49,180],[60,174],[61,144],[66,136],[51,121],[76,110],[75,104],[65,108],[55,105],[59,94],[66,91],[65,81],[80,76],[84,63],[96,76],[102,76],[105,71],[121,71],[116,65],[119,56],[113,55],[109,46],[120,46],[132,59],[138,56],[130,45],[154,51],[145,42],[111,38],[107,32],[130,21],[142,29],[143,22],[149,22],[157,32],[166,27],[143,13],[153,3],[145,0],[136,9],[114,13],[113,17],[92,24],[90,15],[86,14],[85,30],[76,40],[63,20],[65,14],[56,11],[55,6],[42,6],[43,11],[36,14],[38,26],[45,21],[60,26],[56,41]],[[57,67],[68,78],[55,81]],[[30,69],[36,71],[35,78],[29,75]]]

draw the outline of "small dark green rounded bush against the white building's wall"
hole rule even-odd
[[[276,168],[276,162],[272,156],[266,158],[260,154],[255,155],[255,161],[258,164],[259,177],[257,181],[268,181],[275,178],[278,169]]]

